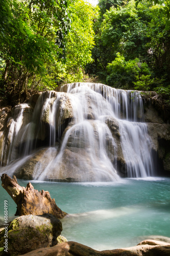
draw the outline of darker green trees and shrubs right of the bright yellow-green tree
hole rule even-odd
[[[94,61],[87,72],[117,88],[147,91],[166,87],[170,80],[170,27],[165,12],[169,0],[156,5],[139,2],[112,1],[109,8],[102,7],[94,24]]]

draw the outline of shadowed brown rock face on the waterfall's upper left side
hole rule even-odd
[[[48,140],[52,140],[49,133],[53,130],[55,140],[56,134],[65,129],[67,120],[72,117],[74,114],[68,94],[54,91],[31,96],[28,104],[16,105],[11,111],[3,108],[0,110],[1,164],[6,165],[36,147],[49,144]],[[55,141],[51,144],[54,145]]]

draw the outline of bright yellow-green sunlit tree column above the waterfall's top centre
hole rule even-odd
[[[94,46],[93,19],[98,15],[98,8],[83,0],[72,3],[71,30],[66,44],[66,61],[62,80],[66,82],[82,81],[84,66],[92,61],[91,49]]]

